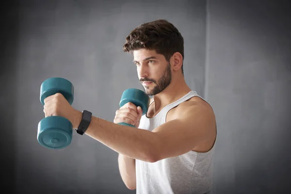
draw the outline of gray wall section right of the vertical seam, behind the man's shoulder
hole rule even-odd
[[[206,98],[217,117],[217,194],[291,193],[287,2],[209,0]]]

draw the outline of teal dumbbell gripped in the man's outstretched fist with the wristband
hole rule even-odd
[[[40,102],[56,93],[61,93],[71,105],[74,101],[74,86],[64,78],[49,78],[40,86]],[[72,141],[72,123],[62,116],[48,116],[38,123],[37,141],[49,149],[61,149]]]

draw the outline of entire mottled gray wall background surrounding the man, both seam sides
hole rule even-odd
[[[1,191],[134,194],[117,153],[83,135],[50,150],[37,142],[39,88],[75,87],[73,107],[113,121],[122,92],[142,89],[122,51],[137,25],[164,18],[185,40],[189,86],[217,117],[213,194],[290,193],[291,27],[287,1],[26,0],[1,7]],[[2,193],[2,192],[1,192]]]

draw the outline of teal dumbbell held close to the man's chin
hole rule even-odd
[[[146,95],[146,93],[142,90],[129,88],[122,93],[119,106],[122,107],[126,103],[131,102],[136,107],[140,106],[142,108],[143,114],[146,114],[150,102],[150,98]],[[119,125],[125,125],[134,127],[128,123],[118,123]]]

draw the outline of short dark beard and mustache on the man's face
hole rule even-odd
[[[152,90],[150,90],[148,86],[144,87],[144,91],[148,96],[159,94],[166,87],[168,87],[168,85],[170,85],[172,81],[171,65],[170,64],[167,65],[166,69],[162,73],[162,76],[161,78],[159,78],[158,82],[156,82],[155,80],[147,79],[147,78],[140,79],[140,82],[142,81],[151,81],[156,84]]]

